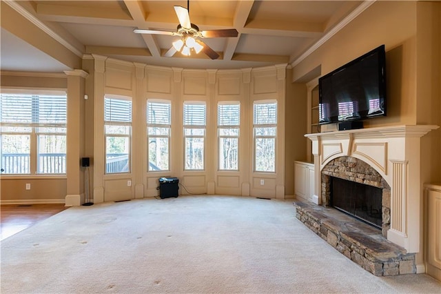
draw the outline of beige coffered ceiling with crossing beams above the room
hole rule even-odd
[[[94,54],[156,66],[219,69],[293,63],[366,6],[366,1],[191,0],[189,17],[200,30],[238,30],[238,37],[203,39],[220,55],[212,60],[203,52],[164,57],[179,37],[133,32],[176,32],[174,6],[187,8],[185,0],[1,2],[1,70],[43,72],[74,67],[51,52],[50,42],[44,41],[48,35],[61,46],[57,52],[79,59]]]

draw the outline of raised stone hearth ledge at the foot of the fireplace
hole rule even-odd
[[[415,253],[388,241],[381,231],[324,206],[294,202],[296,217],[337,251],[377,276],[416,273]]]

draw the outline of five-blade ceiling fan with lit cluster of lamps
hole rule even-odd
[[[165,57],[172,57],[176,52],[189,56],[192,52],[204,52],[211,59],[218,59],[219,55],[212,48],[209,48],[201,39],[216,37],[237,37],[238,31],[235,28],[224,30],[199,30],[198,26],[190,22],[189,17],[189,0],[187,0],[187,8],[182,6],[174,6],[174,11],[178,16],[179,24],[176,32],[165,30],[142,30],[135,29],[133,32],[138,34],[152,35],[169,35],[179,36],[181,39],[174,41],[172,48],[165,52]]]

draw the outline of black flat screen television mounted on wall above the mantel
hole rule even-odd
[[[318,79],[319,124],[386,115],[384,45]]]

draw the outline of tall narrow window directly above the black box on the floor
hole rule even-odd
[[[148,170],[170,170],[170,101],[147,100]]]

